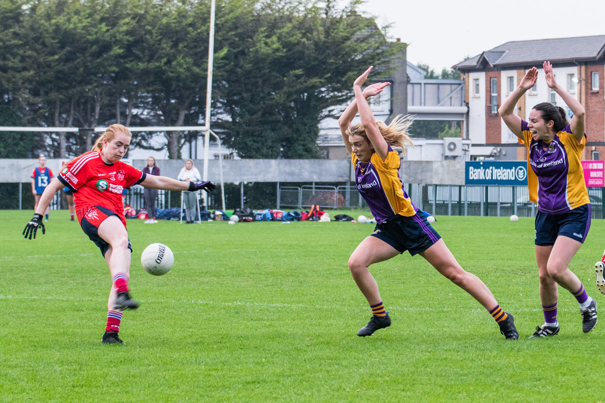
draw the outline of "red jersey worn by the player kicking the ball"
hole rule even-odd
[[[71,160],[58,178],[74,192],[78,217],[82,218],[88,207],[100,205],[114,211],[126,227],[122,192],[144,181],[145,176],[122,161],[105,164],[99,151],[90,151]]]

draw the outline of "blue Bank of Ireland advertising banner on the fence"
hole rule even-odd
[[[470,161],[465,163],[466,185],[527,185],[526,161]]]

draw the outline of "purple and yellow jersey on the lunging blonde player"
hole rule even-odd
[[[405,217],[416,214],[418,209],[412,204],[399,179],[399,153],[388,146],[388,155],[384,162],[375,152],[370,161],[365,163],[359,161],[355,154],[352,153],[351,156],[357,189],[378,224],[394,214]]]

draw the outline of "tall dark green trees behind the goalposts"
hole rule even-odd
[[[318,123],[390,45],[356,2],[219,0],[212,126],[244,158],[316,158]],[[208,0],[6,0],[0,95],[27,126],[198,126],[206,112]],[[382,74],[387,73],[383,70]],[[133,145],[151,148],[153,133]],[[169,157],[197,133],[166,132]],[[45,134],[30,154],[74,156],[93,132]],[[38,148],[36,148],[38,147]]]

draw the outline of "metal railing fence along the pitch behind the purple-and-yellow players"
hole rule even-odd
[[[404,184],[411,201],[421,210],[445,216],[534,217],[527,186]],[[589,187],[592,218],[605,218],[605,188]],[[355,186],[303,185],[280,187],[278,208],[367,208]]]

